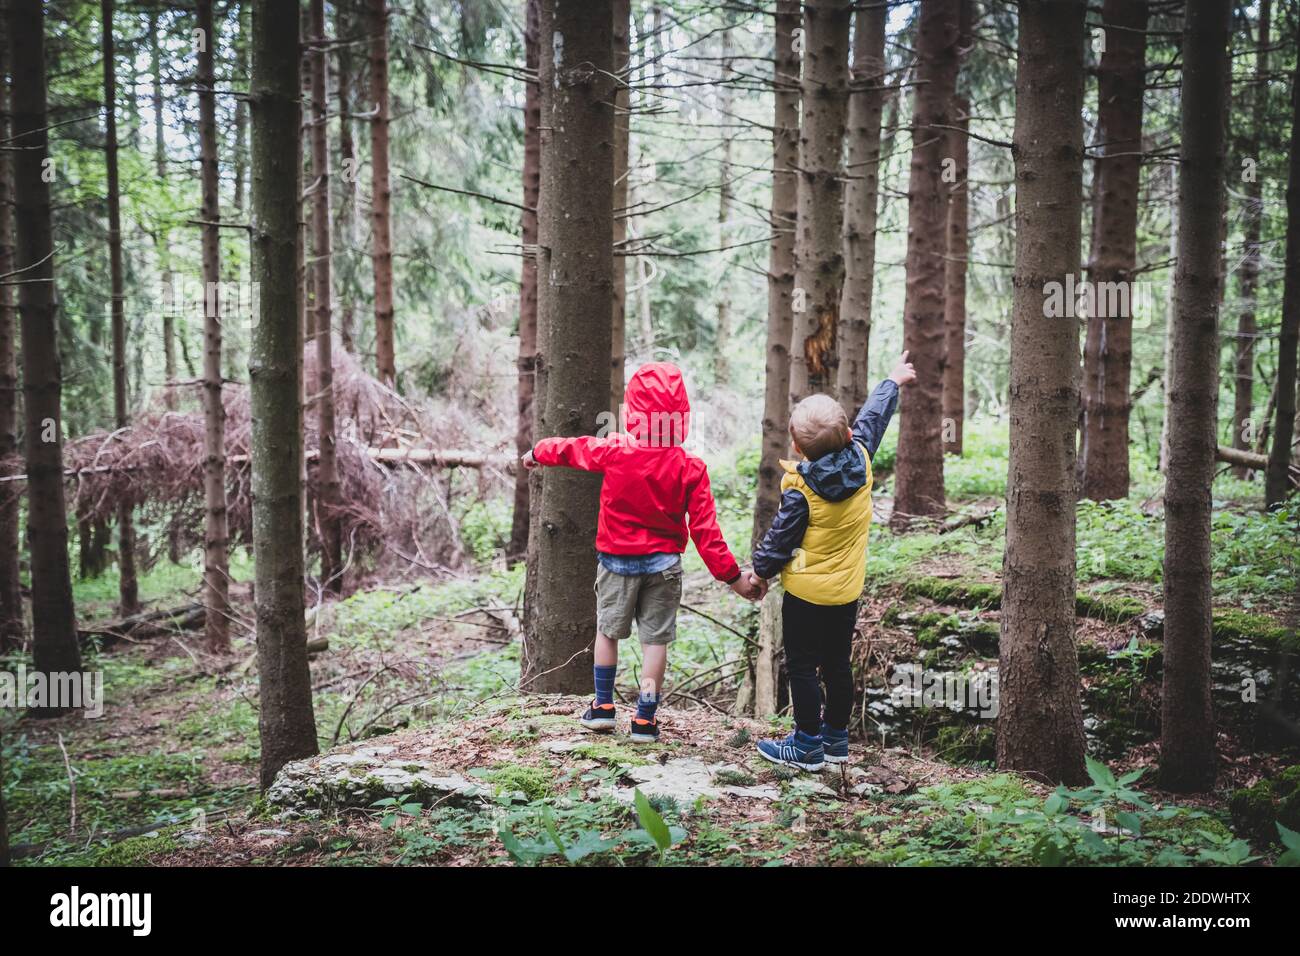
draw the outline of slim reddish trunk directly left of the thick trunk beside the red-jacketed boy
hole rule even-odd
[[[536,70],[538,62],[537,30],[538,3],[528,0],[526,26],[524,30],[525,61],[528,69]],[[533,397],[534,375],[537,369],[537,191],[541,181],[542,142],[541,142],[541,90],[536,82],[524,87],[524,213],[520,232],[523,234],[524,258],[519,280],[519,421],[515,427],[515,450],[520,457],[533,447]],[[515,472],[515,514],[510,529],[508,554],[511,559],[524,557],[528,551],[529,490],[528,472],[523,468]]]

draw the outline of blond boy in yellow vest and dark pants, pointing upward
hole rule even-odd
[[[785,588],[781,635],[794,732],[758,743],[759,754],[774,763],[820,770],[849,761],[849,652],[867,571],[871,457],[898,405],[898,389],[915,380],[904,352],[852,428],[829,395],[809,395],[790,412],[790,438],[803,460],[781,462],[781,506],[749,572],[763,591],[777,574]]]

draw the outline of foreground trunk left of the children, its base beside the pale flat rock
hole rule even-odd
[[[302,349],[298,284],[299,55],[292,4],[257,4],[252,21],[252,280],[257,323],[252,406],[254,594],[260,675],[261,786],[317,752],[303,619]]]

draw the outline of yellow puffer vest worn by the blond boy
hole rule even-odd
[[[871,455],[854,442],[867,481],[844,501],[827,501],[803,480],[797,462],[781,462],[781,492],[797,488],[809,502],[809,527],[794,557],[781,568],[781,587],[810,604],[857,601],[867,575],[871,531]]]

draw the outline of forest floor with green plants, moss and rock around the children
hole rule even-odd
[[[954,483],[985,519],[942,533],[872,533],[859,617],[852,761],[785,773],[754,741],[789,718],[729,715],[758,611],[686,558],[664,737],[634,745],[577,726],[582,698],[520,696],[523,568],[370,583],[309,618],[321,758],[261,795],[247,627],[214,658],[178,632],[87,649],[99,719],[0,714],[4,793],[21,865],[358,864],[1269,864],[1277,823],[1300,827],[1300,674],[1284,624],[1296,518],[1243,496],[1214,518],[1210,793],[1156,788],[1162,522],[1149,502],[1079,506],[1083,706],[1092,784],[994,773],[993,721],[974,705],[898,696],[923,667],[978,683],[997,663],[1002,519],[985,472]],[[1004,472],[1005,473],[1005,470]],[[965,481],[965,484],[962,484]],[[750,485],[714,480],[729,540]],[[1231,490],[1231,489],[1230,489]],[[1239,490],[1239,489],[1238,489]],[[878,519],[888,514],[888,489]],[[247,558],[233,574],[247,580]],[[192,601],[198,570],[160,562],[150,606]],[[77,585],[78,613],[113,614],[112,572]],[[237,613],[251,618],[247,588]],[[619,693],[634,697],[640,649]],[[1270,704],[1273,701],[1274,704]],[[922,704],[920,706],[915,706]],[[1292,769],[1288,769],[1292,767]],[[640,797],[638,799],[638,793]]]

